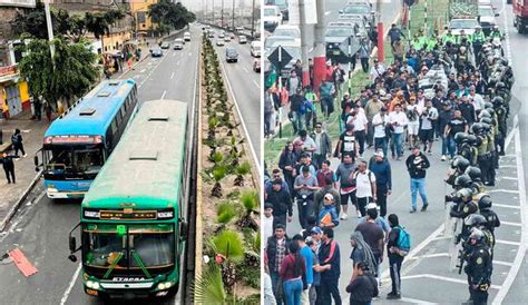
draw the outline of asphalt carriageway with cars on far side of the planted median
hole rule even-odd
[[[216,41],[216,38],[213,40]],[[235,48],[238,51],[237,62],[225,61],[225,49]],[[261,164],[261,73],[253,70],[255,58],[250,53],[250,42],[238,43],[238,38],[226,42],[224,47],[215,45],[221,67],[227,76],[226,88],[234,97],[234,102],[243,119],[243,128],[250,137],[253,158]]]

